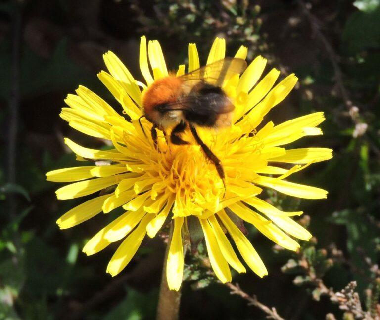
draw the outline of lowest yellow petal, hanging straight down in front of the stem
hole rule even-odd
[[[181,229],[184,223],[184,218],[179,217],[174,219],[174,231],[168,260],[166,263],[166,279],[170,290],[178,291],[181,287],[182,277],[184,274],[184,247],[182,245]]]

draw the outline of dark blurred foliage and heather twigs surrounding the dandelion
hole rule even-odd
[[[45,181],[48,170],[75,165],[64,136],[104,144],[59,118],[66,94],[83,84],[118,108],[96,73],[110,49],[141,78],[141,35],[160,40],[172,69],[186,62],[189,42],[205,62],[220,36],[230,55],[243,44],[249,59],[261,54],[283,77],[297,74],[296,89],[270,117],[325,112],[324,136],[293,146],[334,149],[332,160],[297,177],[329,197],[263,194],[303,210],[300,222],[315,237],[295,254],[246,226],[269,276],[234,281],[284,319],[379,319],[380,0],[1,1],[0,319],[154,319],[163,241],[145,240],[111,278],[105,267],[114,246],[91,257],[81,249],[114,215],[60,231],[55,220],[78,200],[56,200],[57,186]],[[207,266],[201,247],[187,258],[181,319],[265,319]]]

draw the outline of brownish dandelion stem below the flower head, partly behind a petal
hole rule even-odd
[[[170,242],[173,236],[174,221],[170,223],[168,243],[166,245],[164,266],[162,268],[160,292],[158,296],[157,320],[177,320],[180,311],[181,289],[170,290],[166,280],[166,261],[168,259]]]

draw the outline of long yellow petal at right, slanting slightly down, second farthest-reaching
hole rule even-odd
[[[327,198],[328,192],[326,190],[302,185],[299,183],[288,182],[284,180],[278,180],[270,177],[260,176],[255,180],[255,183],[275,189],[285,195],[304,198],[304,199],[324,199]]]

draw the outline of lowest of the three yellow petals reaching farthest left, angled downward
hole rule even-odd
[[[95,217],[95,215],[101,212],[103,202],[108,197],[109,195],[104,195],[88,200],[67,211],[57,220],[59,228],[71,228]]]

